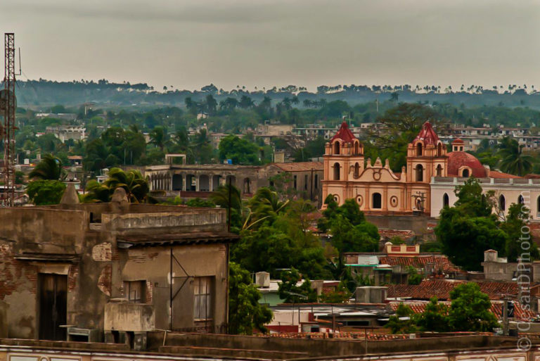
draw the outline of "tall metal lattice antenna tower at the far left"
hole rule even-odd
[[[4,206],[15,201],[15,34],[6,32],[4,74]]]

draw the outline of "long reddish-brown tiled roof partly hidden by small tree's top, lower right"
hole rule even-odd
[[[429,300],[436,296],[439,300],[449,300],[450,291],[458,284],[467,281],[446,281],[430,279],[420,284],[394,284],[388,286],[388,298],[411,298],[413,300]],[[504,296],[517,296],[519,286],[515,282],[477,282],[480,291],[487,293],[490,300],[501,300]]]

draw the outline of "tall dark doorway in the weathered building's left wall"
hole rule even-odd
[[[65,340],[68,310],[68,276],[40,273],[39,280],[39,339]]]

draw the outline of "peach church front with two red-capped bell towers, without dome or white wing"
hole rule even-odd
[[[431,177],[448,174],[446,146],[429,122],[407,147],[401,173],[392,172],[388,160],[365,159],[364,146],[347,122],[326,144],[323,159],[323,200],[332,194],[341,205],[352,198],[360,210],[373,215],[430,215]]]

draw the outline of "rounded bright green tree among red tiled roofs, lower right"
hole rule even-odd
[[[491,301],[480,291],[475,282],[456,286],[450,291],[452,300],[449,310],[449,324],[455,331],[487,331],[498,327],[497,319],[491,313]]]

